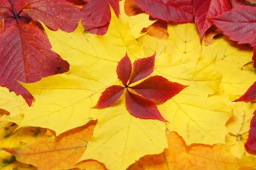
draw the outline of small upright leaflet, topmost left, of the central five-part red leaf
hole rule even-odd
[[[117,64],[116,73],[122,83],[126,86],[129,78],[131,77],[131,60],[127,53]]]

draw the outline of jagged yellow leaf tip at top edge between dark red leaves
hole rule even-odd
[[[146,33],[140,33],[143,28],[146,28],[148,26],[151,26],[153,23],[156,22],[156,20],[149,20],[149,14],[137,14],[134,16],[128,16],[125,14],[125,0],[122,0],[119,2],[120,6],[120,15],[119,15],[119,20],[122,23],[128,23],[130,27],[130,32],[131,34],[135,37],[141,37],[142,35]]]

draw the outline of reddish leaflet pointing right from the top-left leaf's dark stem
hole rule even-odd
[[[81,19],[81,9],[66,0],[24,0],[23,11],[54,31],[73,32]]]

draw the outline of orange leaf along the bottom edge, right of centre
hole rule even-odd
[[[244,164],[229,152],[229,145],[188,147],[174,132],[167,133],[167,138],[168,149],[140,158],[128,170],[239,170]]]

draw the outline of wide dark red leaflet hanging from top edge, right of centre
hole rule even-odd
[[[154,18],[176,23],[193,23],[192,0],[135,0],[137,5]]]

